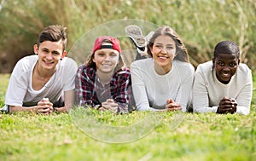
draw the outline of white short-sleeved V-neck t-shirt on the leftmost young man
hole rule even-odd
[[[57,102],[64,91],[75,89],[77,64],[70,58],[63,58],[56,66],[56,72],[42,89],[32,89],[32,71],[38,55],[30,55],[19,60],[9,79],[5,95],[5,105],[35,106],[42,98]]]

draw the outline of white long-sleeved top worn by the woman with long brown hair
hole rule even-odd
[[[172,69],[165,75],[154,71],[152,58],[131,63],[131,83],[138,111],[165,109],[166,101],[172,99],[187,111],[195,69],[179,60],[172,61]]]

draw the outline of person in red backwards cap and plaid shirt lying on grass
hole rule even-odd
[[[75,78],[78,106],[99,111],[128,112],[131,73],[124,68],[116,37],[97,37],[92,55]]]

